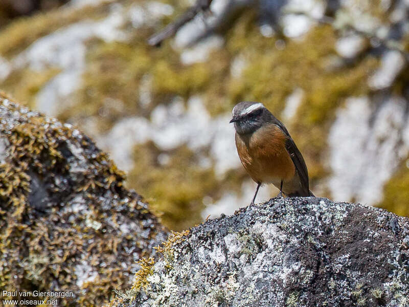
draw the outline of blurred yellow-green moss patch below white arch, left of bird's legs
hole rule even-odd
[[[194,153],[185,146],[169,152],[170,161],[160,165],[160,153],[153,143],[136,146],[135,167],[128,178],[130,186],[151,198],[151,209],[162,212],[162,221],[170,229],[186,229],[201,221],[204,196],[217,190],[212,169],[199,166]]]

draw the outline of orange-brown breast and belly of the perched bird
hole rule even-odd
[[[241,163],[255,182],[288,182],[296,169],[285,148],[286,136],[276,125],[262,127],[251,136],[236,133],[236,147]]]

